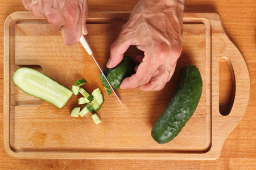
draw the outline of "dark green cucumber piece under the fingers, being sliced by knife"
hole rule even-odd
[[[131,76],[134,73],[135,62],[132,58],[125,56],[123,60],[114,68],[109,69],[106,68],[103,73],[106,78],[109,80],[109,83],[113,87],[114,90],[118,90],[120,84],[123,79]],[[104,78],[104,75],[100,74],[101,83],[104,86],[108,95],[111,94],[111,89],[109,87],[108,82]]]

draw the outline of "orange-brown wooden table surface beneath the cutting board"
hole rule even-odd
[[[131,11],[137,1],[105,2],[89,1],[90,11]],[[0,2],[0,27],[7,16],[15,11],[26,11],[22,1]],[[226,139],[222,148],[221,156],[217,160],[28,160],[15,159],[6,154],[3,148],[3,128],[0,129],[0,169],[254,169],[256,167],[256,96],[255,76],[256,71],[256,2],[248,1],[188,1],[185,11],[218,12],[227,35],[237,45],[245,57],[251,76],[251,96],[247,110],[236,129]],[[1,56],[3,56],[3,31],[1,32]],[[3,57],[2,57],[3,58]],[[227,72],[227,65],[221,62],[221,71]],[[3,80],[3,59],[1,59],[1,76]],[[228,75],[228,74],[227,74]],[[229,76],[223,76],[222,82],[229,81]],[[1,98],[3,99],[3,81],[1,83]],[[222,83],[220,94],[222,103],[228,102],[230,88]],[[3,111],[3,102],[0,103]],[[3,124],[3,117],[0,117]]]

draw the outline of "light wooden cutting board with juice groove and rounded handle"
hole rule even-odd
[[[105,69],[109,48],[127,12],[91,12],[89,35],[85,36],[100,67]],[[117,90],[106,95],[100,71],[80,43],[64,44],[61,32],[30,12],[15,12],[5,22],[4,37],[4,125],[6,152],[22,159],[217,159],[229,133],[241,120],[250,94],[246,62],[226,36],[215,13],[185,13],[183,52],[174,76],[160,91]],[[141,51],[131,46],[126,55]],[[228,115],[219,111],[219,61],[224,58],[232,76],[233,100]],[[160,145],[151,129],[171,97],[184,65],[196,65],[203,79],[203,93],[196,112],[171,142]],[[72,96],[61,109],[19,90],[12,76],[19,67],[31,67],[71,89],[75,80],[91,93],[100,88],[105,98],[94,124],[91,114],[71,117],[77,99]]]

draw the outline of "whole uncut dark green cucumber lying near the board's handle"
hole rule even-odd
[[[199,69],[184,66],[165,111],[156,120],[151,136],[160,144],[170,142],[185,126],[196,110],[203,88]]]

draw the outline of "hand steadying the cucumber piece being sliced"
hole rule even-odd
[[[174,74],[181,54],[184,2],[140,0],[131,12],[117,40],[110,47],[109,68],[122,61],[130,45],[144,52],[136,73],[123,80],[120,88],[161,90]]]

